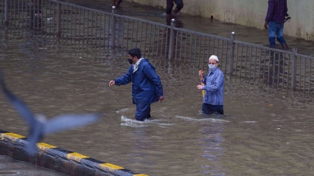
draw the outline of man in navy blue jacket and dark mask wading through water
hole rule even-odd
[[[111,80],[109,86],[126,85],[132,82],[132,99],[136,104],[136,120],[151,118],[151,103],[163,101],[163,86],[155,68],[142,58],[139,48],[132,48],[128,51],[128,62],[131,64],[126,73]]]

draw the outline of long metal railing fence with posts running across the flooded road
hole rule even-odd
[[[1,29],[31,30],[69,48],[104,48],[125,52],[141,48],[143,56],[174,65],[207,68],[209,56],[220,58],[221,70],[242,81],[313,93],[313,57],[293,51],[134,19],[53,0],[0,0]]]

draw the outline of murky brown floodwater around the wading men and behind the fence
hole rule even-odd
[[[83,5],[96,8],[96,2]],[[101,3],[110,6],[108,0]],[[149,9],[159,16],[141,15],[144,9],[123,1],[118,13],[164,21],[162,9]],[[206,26],[193,24],[203,21],[217,26],[220,31],[213,32],[218,36],[238,31],[239,41],[267,43],[262,30],[182,14],[179,18],[186,29],[209,33]],[[11,34],[1,40],[0,69],[7,86],[34,113],[102,115],[98,123],[46,136],[44,143],[147,175],[313,175],[314,104],[302,93],[226,75],[226,114],[202,115],[198,68],[150,58],[161,76],[165,100],[151,105],[151,120],[138,122],[133,120],[131,85],[108,87],[128,68],[126,53],[66,51],[41,45],[42,38],[33,37]],[[308,47],[313,42],[286,39],[290,46],[300,46],[298,51],[314,55]],[[27,136],[26,123],[2,94],[0,113],[0,129]]]

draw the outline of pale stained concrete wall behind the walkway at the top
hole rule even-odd
[[[166,9],[166,0],[126,0]],[[183,0],[183,14],[211,17],[244,26],[263,29],[268,0]],[[285,34],[314,41],[314,1],[288,0],[290,22]]]

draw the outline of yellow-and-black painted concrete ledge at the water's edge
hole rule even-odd
[[[29,156],[24,150],[28,143],[28,138],[22,135],[0,130],[0,155],[7,155],[14,160],[29,162],[66,175],[147,176],[46,143],[37,143],[39,147],[37,155]]]

